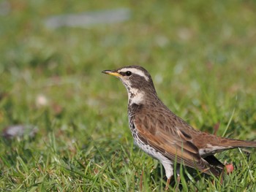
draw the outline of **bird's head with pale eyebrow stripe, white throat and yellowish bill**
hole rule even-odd
[[[151,75],[142,66],[124,66],[102,73],[118,77],[127,88],[129,103],[142,103],[148,96],[157,96]]]

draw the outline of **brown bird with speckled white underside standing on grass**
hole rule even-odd
[[[124,66],[102,73],[117,77],[127,89],[132,137],[138,147],[164,166],[165,190],[170,185],[175,164],[219,177],[225,165],[215,153],[236,147],[256,147],[254,141],[217,137],[190,126],[159,99],[151,75],[142,66]],[[179,167],[176,166],[178,183]]]

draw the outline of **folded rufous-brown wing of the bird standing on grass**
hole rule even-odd
[[[150,114],[140,113],[135,116],[134,123],[140,140],[154,147],[171,161],[200,169],[207,174],[219,175],[216,169],[200,157],[198,148],[187,140],[188,135],[179,128],[170,127],[172,118],[166,118],[166,115],[153,118]]]

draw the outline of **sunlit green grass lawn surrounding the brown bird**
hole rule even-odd
[[[3,2],[3,1],[1,1]],[[164,191],[162,166],[132,142],[127,93],[104,69],[138,64],[162,101],[192,126],[256,137],[255,1],[7,1],[1,15],[0,191]],[[127,7],[124,23],[49,30],[49,15]],[[47,101],[40,102],[40,98]],[[223,183],[184,169],[181,191],[255,191],[256,156],[217,154],[235,166]],[[175,188],[170,185],[170,190]]]

